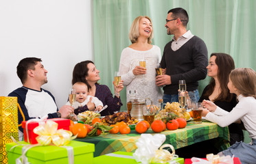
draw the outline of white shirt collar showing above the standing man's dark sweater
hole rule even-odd
[[[172,38],[172,51],[177,51],[178,49],[183,46],[187,41],[189,41],[194,35],[191,33],[191,31],[187,31],[184,33],[181,37],[179,37],[177,40],[175,40],[175,37]]]

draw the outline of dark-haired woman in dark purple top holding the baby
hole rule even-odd
[[[114,111],[119,111],[121,105],[121,99],[119,96],[119,92],[123,90],[124,85],[123,81],[115,86],[115,97],[111,94],[108,86],[100,85],[97,81],[100,80],[100,71],[97,70],[93,61],[86,60],[81,61],[80,63],[76,64],[73,68],[73,79],[72,85],[76,82],[83,82],[86,83],[89,89],[89,95],[97,97],[99,100],[102,101],[103,105],[108,105],[108,108],[102,111],[100,114],[104,115],[112,115]],[[84,107],[79,107],[75,109],[74,113],[78,114],[83,111],[92,110],[95,108],[95,105],[91,100],[85,105]]]

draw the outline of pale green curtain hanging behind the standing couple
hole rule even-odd
[[[256,1],[254,0],[94,0],[93,39],[94,58],[100,70],[100,83],[114,90],[114,73],[119,69],[121,51],[131,44],[128,33],[132,21],[139,15],[152,18],[152,44],[161,53],[172,36],[167,36],[165,18],[172,8],[184,8],[189,14],[187,29],[202,38],[211,53],[230,54],[235,66],[256,70]],[[199,92],[209,83],[200,81]],[[126,89],[121,92],[126,110]]]

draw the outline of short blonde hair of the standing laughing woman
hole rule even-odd
[[[135,18],[135,20],[133,20],[133,22],[132,22],[132,26],[130,27],[130,32],[129,32],[129,39],[130,39],[130,42],[132,42],[132,43],[135,43],[138,41],[139,21],[141,21],[142,18],[147,18],[148,20],[150,20],[150,23],[152,23],[150,17],[148,17],[148,16],[138,16],[137,18]],[[153,33],[153,26],[152,26],[151,35],[148,38],[148,44],[152,43],[153,36],[154,36],[154,33]]]

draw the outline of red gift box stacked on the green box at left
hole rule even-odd
[[[64,118],[52,118],[52,119],[47,119],[47,120],[51,120],[51,121],[54,121],[56,123],[58,123],[58,129],[62,128],[64,130],[67,130],[69,131],[69,126],[70,126],[70,120],[69,119],[64,119]],[[27,141],[27,133],[26,133],[26,122],[27,121],[23,121],[22,122],[22,128],[23,128],[23,134],[24,134],[24,141],[28,142]],[[37,126],[39,125],[38,122],[30,122],[27,124],[27,131],[28,131],[28,136],[29,136],[29,139],[30,139],[30,142],[31,144],[36,144],[38,143],[36,141],[36,137],[38,135],[36,135],[33,130],[34,128],[36,128]]]

